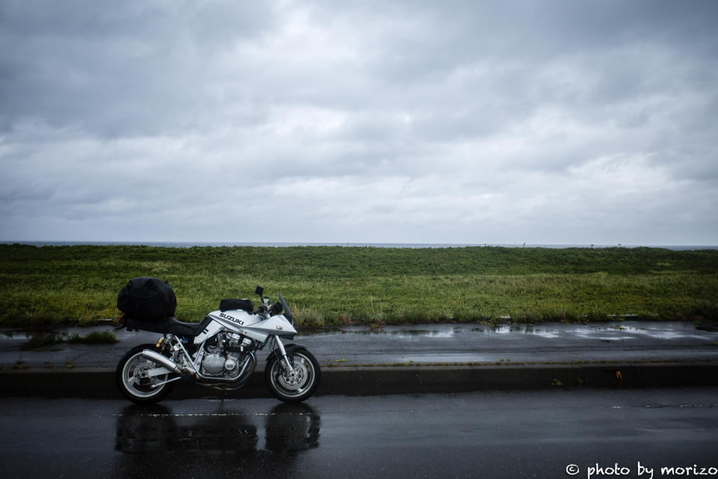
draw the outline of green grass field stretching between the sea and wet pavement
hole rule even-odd
[[[300,325],[662,319],[718,315],[718,251],[663,248],[371,248],[0,245],[0,325],[89,325],[120,316],[136,276],[177,294],[177,318],[262,284]]]

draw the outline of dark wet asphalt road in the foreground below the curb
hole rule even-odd
[[[616,463],[628,474],[611,477],[636,478],[639,461],[658,478],[667,477],[661,467],[718,468],[718,388],[327,396],[298,405],[0,399],[0,429],[6,479],[587,478],[589,467]],[[569,465],[579,473],[568,475]]]

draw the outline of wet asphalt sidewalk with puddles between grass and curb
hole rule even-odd
[[[87,332],[111,327],[65,328],[56,332]],[[116,332],[114,345],[48,345],[28,348],[34,332],[0,329],[0,364],[16,361],[34,368],[114,368],[123,353],[156,343],[150,332]],[[302,332],[294,343],[307,346],[324,366],[383,363],[470,363],[573,361],[717,361],[718,324],[694,322],[607,322],[588,325],[396,325],[370,331],[366,327],[327,328]],[[55,349],[55,350],[52,350]],[[260,353],[266,357],[268,350]],[[264,361],[259,361],[259,369]]]

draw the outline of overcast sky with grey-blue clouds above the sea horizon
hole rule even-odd
[[[718,244],[718,2],[0,0],[0,240]]]

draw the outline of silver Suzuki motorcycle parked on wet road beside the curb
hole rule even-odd
[[[257,366],[256,352],[269,346],[264,381],[271,394],[285,403],[311,397],[320,384],[319,363],[304,345],[282,343],[297,334],[294,317],[281,294],[271,304],[263,293],[256,287],[261,298],[256,311],[249,299],[223,299],[220,310],[198,323],[123,315],[117,329],[163,334],[157,344],[139,345],[123,355],[115,373],[123,396],[136,404],[155,404],[180,378],[222,391],[240,389]]]

